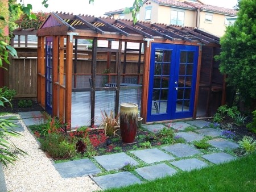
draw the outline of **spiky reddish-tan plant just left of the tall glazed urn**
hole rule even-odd
[[[107,136],[114,136],[117,135],[117,130],[119,130],[119,123],[118,123],[118,118],[119,114],[114,117],[113,111],[110,111],[110,114],[108,115],[106,111],[104,112],[101,111],[101,118],[102,122],[100,127],[103,127],[105,130],[105,134]],[[119,136],[119,135],[117,135]]]

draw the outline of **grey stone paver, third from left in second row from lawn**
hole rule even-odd
[[[152,162],[172,160],[174,157],[160,151],[159,149],[143,149],[139,151],[131,151],[135,156],[140,158],[142,161],[151,164]]]

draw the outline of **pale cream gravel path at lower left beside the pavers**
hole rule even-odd
[[[95,191],[100,187],[89,176],[77,178],[61,178],[52,165],[51,160],[39,149],[34,136],[24,123],[22,137],[10,137],[16,147],[28,155],[4,167],[7,191]]]

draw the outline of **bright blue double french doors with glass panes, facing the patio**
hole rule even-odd
[[[198,47],[152,43],[147,122],[193,116]]]

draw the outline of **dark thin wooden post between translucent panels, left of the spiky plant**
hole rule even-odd
[[[96,94],[96,64],[97,64],[97,37],[93,39],[92,51],[92,92],[91,92],[91,108],[90,108],[90,126],[94,125],[95,119],[95,94]]]

